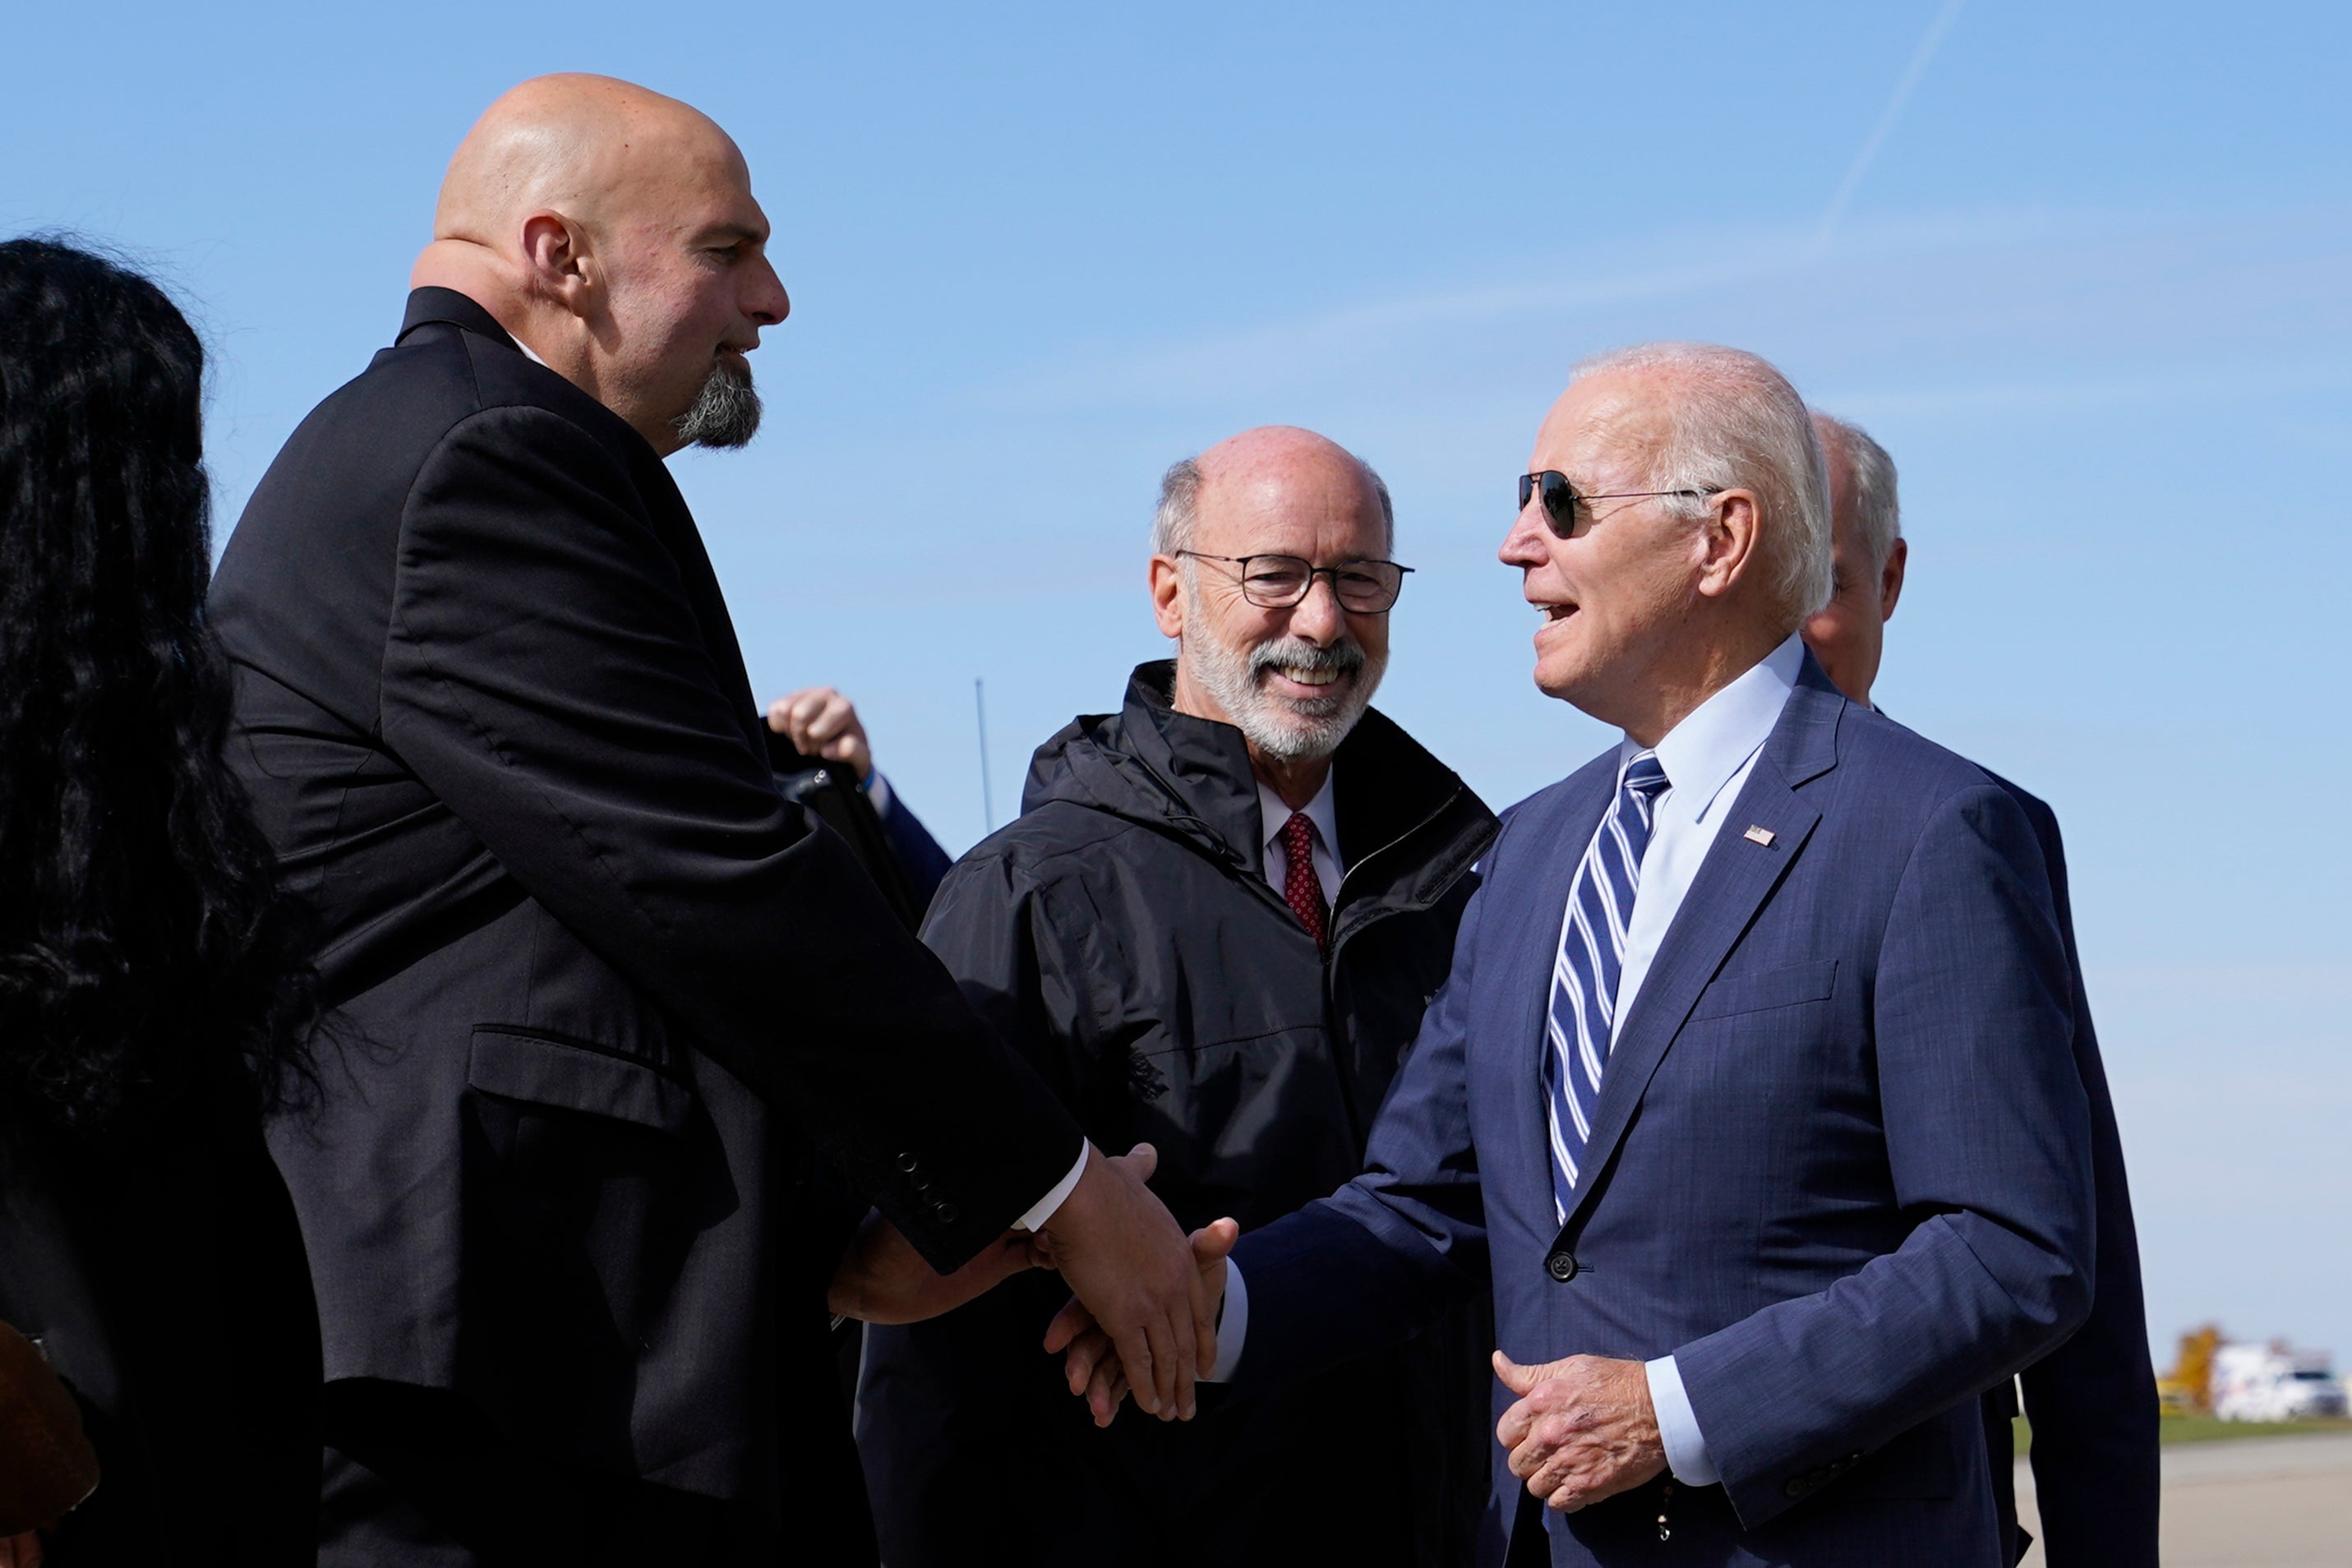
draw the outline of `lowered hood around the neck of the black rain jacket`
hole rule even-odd
[[[1176,712],[1174,689],[1174,661],[1136,665],[1120,712],[1082,715],[1037,748],[1021,809],[1068,802],[1105,811],[1258,875],[1265,839],[1249,745],[1232,724]],[[1341,741],[1331,773],[1343,889],[1357,884],[1359,865],[1439,818],[1439,837],[1454,844],[1432,844],[1439,853],[1418,858],[1416,886],[1442,891],[1494,837],[1486,804],[1378,708],[1367,708]]]

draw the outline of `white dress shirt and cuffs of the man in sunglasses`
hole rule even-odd
[[[1632,919],[1625,922],[1625,957],[1618,971],[1616,1027],[1625,1025],[1642,983],[1658,957],[1682,898],[1698,879],[1715,839],[1722,837],[1724,816],[1740,797],[1740,785],[1755,769],[1764,741],[1788,693],[1797,686],[1797,670],[1804,668],[1804,642],[1792,632],[1788,642],[1764,656],[1729,686],[1693,708],[1682,724],[1658,741],[1658,766],[1665,769],[1665,792],[1651,811],[1649,849],[1642,851],[1642,882],[1635,889]],[[1642,745],[1625,736],[1618,743],[1618,778]],[[1566,910],[1562,910],[1566,929]],[[1611,1034],[1611,1041],[1616,1034]],[[1602,1070],[1606,1081],[1606,1070]],[[1225,1267],[1225,1314],[1216,1328],[1214,1382],[1232,1375],[1242,1359],[1242,1338],[1249,1333],[1249,1291],[1242,1269]],[[1684,1486],[1715,1486],[1722,1476],[1708,1455],[1705,1434],[1691,1410],[1691,1396],[1682,1387],[1682,1371],[1675,1356],[1658,1356],[1644,1363],[1649,1373],[1649,1403],[1658,1415],[1658,1439],[1665,1446],[1668,1469]]]

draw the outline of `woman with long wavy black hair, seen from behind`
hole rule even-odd
[[[0,242],[0,1321],[99,1462],[12,1542],[52,1568],[315,1561],[318,1314],[261,1143],[310,1004],[221,757],[202,381],[153,282]]]

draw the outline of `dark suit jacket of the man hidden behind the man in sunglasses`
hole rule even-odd
[[[2091,1110],[2091,1171],[2098,1187],[2098,1300],[2065,1345],[1985,1396],[1985,1446],[2004,1521],[2016,1528],[2009,1422],[2018,1389],[2032,1420],[2034,1507],[2051,1568],[2154,1568],[2157,1563],[2157,1373],[2147,1356],[2147,1300],[2140,1291],[2140,1237],[2131,1220],[2124,1140],[2114,1126],[2107,1067],[2091,1027],[2091,999],[2074,950],[2058,813],[2006,778],[1992,783],[2025,809],[2051,872],[2058,924],[2074,987],[2074,1067]],[[2023,1554],[2023,1540],[2020,1540]]]

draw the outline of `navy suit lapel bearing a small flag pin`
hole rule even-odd
[[[1675,922],[1658,943],[1649,978],[1625,1016],[1609,1067],[1602,1072],[1602,1098],[1592,1112],[1592,1138],[1585,1143],[1585,1180],[1578,1182],[1576,1211],[1569,1225],[1592,1206],[1592,1194],[1606,1182],[1602,1171],[1616,1145],[1625,1138],[1632,1114],[1649,1088],[1649,1079],[1665,1060],[1668,1046],[1682,1032],[1698,992],[1708,987],[1722,969],[1731,947],[1755,922],[1757,910],[1780,886],[1788,867],[1804,853],[1820,811],[1809,806],[1797,785],[1818,778],[1837,766],[1837,717],[1846,698],[1828,682],[1813,656],[1804,656],[1797,686],[1790,691],[1780,722],[1764,741],[1738,799],[1715,830],[1691,891],[1684,893]],[[1745,837],[1748,827],[1764,827],[1769,844]],[[1566,891],[1562,891],[1566,898]]]

